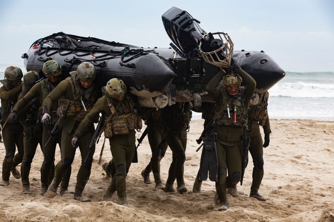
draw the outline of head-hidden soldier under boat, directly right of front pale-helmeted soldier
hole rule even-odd
[[[150,180],[150,173],[153,171],[155,188],[163,190],[165,189],[165,185],[162,183],[160,178],[160,161],[161,158],[165,156],[168,144],[164,142],[162,147],[157,149],[165,134],[163,131],[163,124],[160,119],[160,112],[161,109],[154,109],[143,117],[147,124],[148,142],[150,144],[152,154],[154,153],[154,155],[151,157],[150,162],[142,171],[141,175],[144,178],[144,183],[150,184],[152,183]]]

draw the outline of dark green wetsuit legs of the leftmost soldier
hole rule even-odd
[[[23,126],[21,123],[7,123],[2,130],[6,155],[2,163],[2,179],[9,181],[10,170],[22,162],[23,159]],[[15,155],[17,147],[17,154]],[[15,156],[14,156],[15,155]]]

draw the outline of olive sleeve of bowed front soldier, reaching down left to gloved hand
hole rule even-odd
[[[106,99],[105,97],[101,97],[100,99],[98,99],[98,101],[95,103],[93,109],[81,121],[80,125],[78,126],[78,128],[75,132],[75,135],[77,135],[78,137],[81,137],[82,134],[87,131],[89,126],[92,125],[92,123],[94,122],[94,119],[96,119],[96,117],[99,115],[99,113],[102,113],[102,115],[106,114],[106,112],[104,110],[105,99]]]

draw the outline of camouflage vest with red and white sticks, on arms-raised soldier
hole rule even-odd
[[[225,126],[243,126],[244,123],[247,122],[247,102],[245,101],[244,96],[244,86],[241,86],[238,93],[233,96],[233,100],[228,103],[230,117],[228,117],[227,107],[221,112],[218,113],[217,110],[215,112],[215,116],[217,116],[217,124],[225,125]],[[225,86],[220,85],[221,90],[221,105],[225,105],[228,100],[228,94],[226,92]],[[236,113],[236,118],[234,122],[234,113]]]

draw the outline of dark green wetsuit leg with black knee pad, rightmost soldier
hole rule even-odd
[[[253,159],[253,182],[251,186],[251,190],[258,191],[261,185],[261,181],[263,178],[264,170],[263,170],[263,140],[260,133],[260,129],[256,133],[248,134],[251,138],[249,152],[252,155]]]

